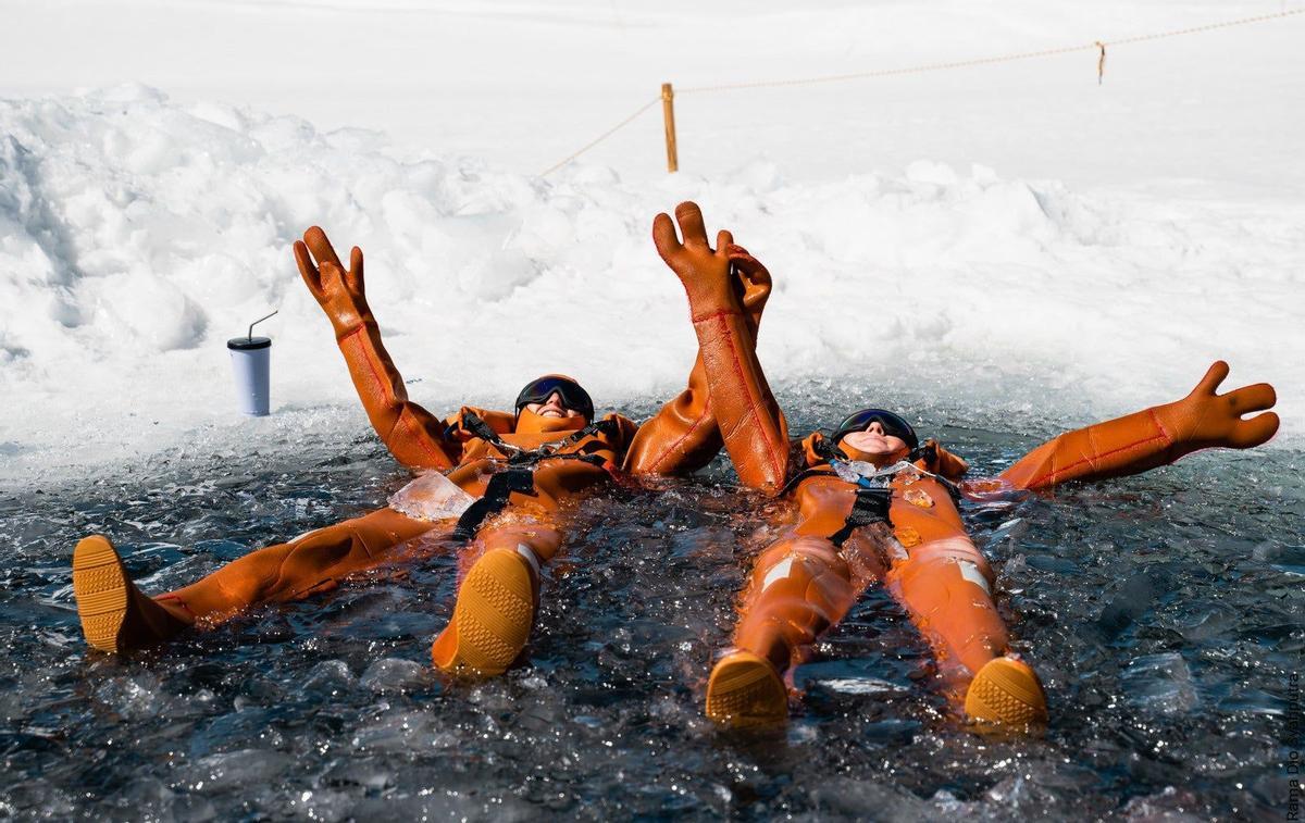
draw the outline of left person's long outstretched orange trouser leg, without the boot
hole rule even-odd
[[[341,578],[393,560],[397,546],[428,531],[431,523],[381,509],[252,552],[157,600],[191,620],[224,620],[260,603],[334,588]]]

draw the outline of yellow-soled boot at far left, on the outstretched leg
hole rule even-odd
[[[85,537],[73,550],[73,595],[82,634],[100,651],[154,646],[189,626],[132,584],[114,544],[100,535]]]

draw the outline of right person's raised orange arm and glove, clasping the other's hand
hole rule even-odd
[[[652,240],[689,295],[711,411],[739,479],[774,492],[788,470],[788,432],[757,361],[756,326],[740,301],[748,300],[760,313],[770,293],[770,273],[745,249],[731,252],[728,231],[716,235],[716,249],[709,247],[696,203],[680,203],[675,217],[684,243],[666,214],[652,222]],[[737,269],[737,279],[731,269]]]

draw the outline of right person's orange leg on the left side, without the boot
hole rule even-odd
[[[847,614],[863,586],[853,583],[852,570],[829,540],[783,537],[757,558],[735,646],[784,672]]]

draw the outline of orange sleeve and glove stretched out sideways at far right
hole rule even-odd
[[[1241,417],[1272,407],[1274,387],[1255,383],[1215,394],[1225,377],[1228,364],[1219,360],[1181,400],[1061,434],[1001,476],[1017,488],[1043,489],[1069,480],[1135,475],[1198,449],[1250,449],[1268,441],[1278,430],[1278,415]]]

